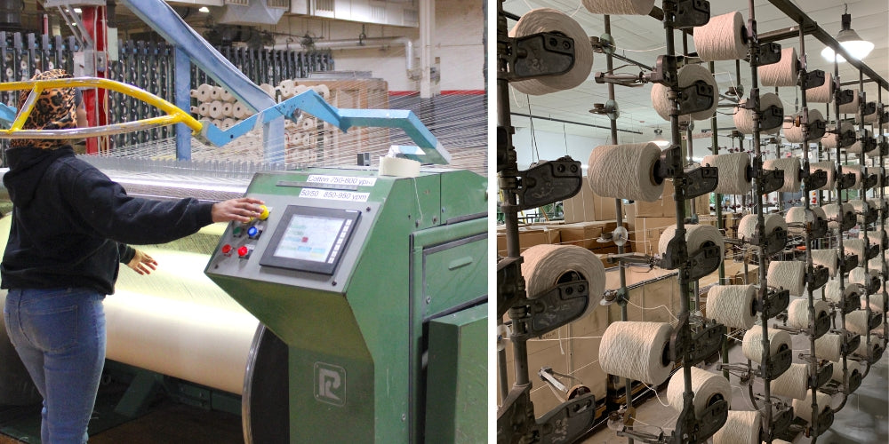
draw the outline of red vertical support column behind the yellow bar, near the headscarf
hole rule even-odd
[[[86,73],[96,77],[106,77],[108,70],[107,27],[104,6],[84,6],[81,18],[84,22],[84,31],[92,38],[95,45],[92,57],[96,67],[94,73]],[[87,48],[89,49],[89,48]],[[87,54],[90,57],[90,54]],[[108,91],[103,89],[87,89],[84,91],[84,106],[90,126],[104,126],[108,124]],[[108,136],[86,139],[86,153],[97,154],[108,152]]]

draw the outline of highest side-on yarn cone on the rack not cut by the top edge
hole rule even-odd
[[[747,56],[744,18],[741,12],[710,17],[706,25],[694,28],[694,49],[704,61],[737,60]]]

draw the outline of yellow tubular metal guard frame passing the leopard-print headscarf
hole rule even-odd
[[[117,123],[114,125],[106,125],[94,129],[76,129],[76,130],[22,130],[22,126],[28,119],[31,110],[34,109],[34,102],[40,95],[40,91],[51,88],[102,88],[109,91],[116,91],[131,96],[136,99],[157,107],[164,111],[167,115],[161,117],[152,117],[142,119],[135,122]],[[2,139],[78,139],[82,137],[92,137],[106,134],[119,134],[128,131],[145,130],[152,126],[164,126],[175,123],[185,123],[191,129],[193,134],[200,133],[204,127],[203,123],[198,122],[194,117],[176,107],[172,103],[157,97],[156,95],[140,90],[135,86],[127,83],[117,82],[110,79],[102,79],[96,77],[74,77],[68,79],[50,79],[50,80],[26,80],[20,82],[0,83],[0,91],[20,91],[31,90],[28,101],[25,103],[24,109],[19,112],[12,128],[0,131]],[[87,131],[94,130],[94,131]],[[52,131],[50,133],[49,131]],[[39,133],[39,135],[38,135]],[[86,135],[86,136],[84,136]]]

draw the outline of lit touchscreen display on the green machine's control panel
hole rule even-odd
[[[339,250],[343,218],[323,218],[294,214],[284,229],[274,255],[278,258],[326,262],[335,248]]]

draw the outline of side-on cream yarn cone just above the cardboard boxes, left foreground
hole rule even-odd
[[[654,178],[660,158],[661,148],[652,142],[596,147],[587,162],[589,188],[604,197],[657,201],[664,189]]]

